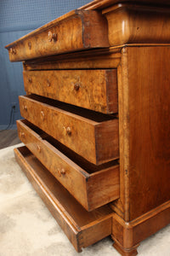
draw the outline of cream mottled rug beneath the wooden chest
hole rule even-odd
[[[0,256],[120,255],[111,237],[83,248],[82,253],[75,251],[16,163],[15,147],[0,149]],[[170,225],[142,241],[138,252],[169,256]]]

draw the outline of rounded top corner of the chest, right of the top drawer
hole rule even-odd
[[[170,42],[170,9],[117,4],[103,14],[108,20],[110,45]]]

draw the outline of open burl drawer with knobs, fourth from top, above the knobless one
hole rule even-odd
[[[94,166],[28,121],[18,120],[17,127],[20,140],[86,210],[92,211],[119,197],[117,163]]]

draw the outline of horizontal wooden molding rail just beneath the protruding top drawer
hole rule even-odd
[[[24,70],[52,70],[52,69],[106,69],[115,68],[121,60],[120,47],[109,49],[91,49],[65,55],[54,55],[42,59],[25,61]]]

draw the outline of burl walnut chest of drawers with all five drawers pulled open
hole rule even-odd
[[[16,160],[77,252],[111,236],[136,255],[170,223],[169,43],[169,1],[95,0],[6,46]]]

